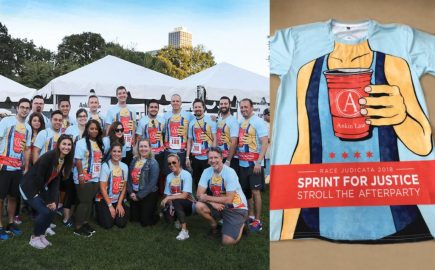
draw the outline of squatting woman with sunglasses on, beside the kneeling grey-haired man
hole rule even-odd
[[[172,222],[175,218],[178,219],[181,231],[176,239],[182,241],[189,238],[186,217],[192,214],[192,175],[181,168],[180,157],[177,154],[169,154],[167,161],[171,173],[166,177],[165,198],[161,206],[167,220]]]

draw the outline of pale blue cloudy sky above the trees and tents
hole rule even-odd
[[[269,76],[268,0],[0,0],[0,22],[12,37],[52,51],[63,37],[83,32],[138,51],[158,50],[183,26],[193,46],[204,45],[217,63]]]

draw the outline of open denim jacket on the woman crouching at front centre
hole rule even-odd
[[[128,173],[128,181],[127,181],[127,191],[128,194],[133,192],[133,180],[131,177],[131,172],[136,165],[137,158],[133,158],[130,163],[129,173]],[[155,192],[158,190],[157,182],[159,180],[159,163],[154,158],[147,159],[144,166],[140,171],[139,178],[139,191],[137,191],[136,196],[139,199],[145,198],[151,192]]]

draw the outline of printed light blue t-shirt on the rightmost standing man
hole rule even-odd
[[[239,160],[240,166],[254,166],[261,152],[260,138],[267,136],[267,127],[260,117],[252,115],[249,119],[240,120],[239,128]]]

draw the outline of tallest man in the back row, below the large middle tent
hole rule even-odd
[[[125,161],[127,166],[130,166],[133,158],[132,146],[134,145],[134,136],[136,134],[136,110],[127,105],[128,92],[124,86],[119,86],[116,89],[116,98],[118,99],[118,104],[109,109],[105,119],[106,134],[113,122],[119,121],[122,123],[126,150],[126,157],[123,161]]]

